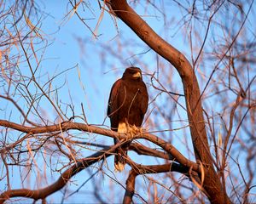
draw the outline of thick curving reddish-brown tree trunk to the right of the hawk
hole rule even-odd
[[[147,43],[150,48],[154,49],[157,54],[160,54],[177,69],[183,82],[195,159],[207,169],[202,186],[207,191],[207,196],[211,203],[231,203],[213,167],[201,107],[200,88],[195,71],[192,69],[188,59],[159,37],[125,0],[109,0],[108,3],[113,13],[125,22],[143,42]]]

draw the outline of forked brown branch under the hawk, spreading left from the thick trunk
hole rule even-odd
[[[63,188],[65,184],[67,184],[68,180],[72,178],[73,175],[75,175],[76,173],[79,173],[81,170],[83,170],[86,167],[90,167],[91,164],[94,164],[97,161],[101,161],[103,158],[113,155],[114,150],[116,150],[116,148],[119,147],[119,145],[122,145],[124,142],[129,142],[132,139],[147,139],[148,141],[151,141],[152,143],[162,147],[163,150],[165,150],[165,153],[160,152],[158,150],[151,150],[148,147],[143,147],[143,145],[141,144],[131,144],[131,150],[132,149],[137,150],[141,154],[143,154],[144,152],[146,155],[156,154],[156,156],[160,156],[166,159],[173,159],[179,162],[178,164],[179,168],[177,168],[177,164],[175,163],[166,164],[166,165],[156,165],[156,166],[143,166],[131,161],[130,159],[127,159],[127,163],[132,167],[133,171],[135,171],[136,174],[170,172],[173,170],[176,170],[177,172],[185,174],[185,172],[186,173],[188,172],[188,169],[193,169],[195,173],[201,173],[201,168],[199,167],[198,164],[196,164],[193,161],[189,161],[175,147],[173,147],[172,144],[167,143],[165,140],[158,138],[154,134],[140,133],[131,138],[131,137],[127,137],[126,134],[120,134],[102,127],[96,127],[96,126],[86,125],[84,123],[71,122],[71,121],[61,122],[59,124],[44,126],[44,127],[26,127],[24,125],[20,125],[15,122],[0,120],[0,126],[15,129],[22,133],[27,133],[24,139],[26,139],[27,136],[34,135],[34,134],[53,133],[53,135],[55,135],[56,133],[64,133],[64,132],[67,132],[68,130],[79,130],[87,133],[97,133],[97,134],[102,134],[108,137],[120,139],[120,142],[118,144],[115,144],[111,147],[100,150],[99,152],[97,152],[92,156],[86,157],[81,160],[76,160],[77,161],[76,164],[68,168],[64,173],[62,173],[61,177],[54,184],[51,184],[48,187],[45,187],[44,189],[39,189],[39,190],[27,190],[27,189],[7,190],[0,195],[0,203],[3,203],[3,201],[8,200],[10,197],[17,197],[17,196],[29,197],[34,199],[35,201],[37,201],[38,199],[44,200],[48,195],[51,195],[57,190],[61,190],[61,188]],[[127,138],[129,139],[127,140]],[[19,141],[23,142],[22,139],[20,139]],[[8,146],[3,147],[3,149],[0,150],[1,154],[5,154],[10,149],[15,148],[15,145],[17,144],[16,143],[9,144]],[[186,171],[183,172],[183,169],[186,169]]]

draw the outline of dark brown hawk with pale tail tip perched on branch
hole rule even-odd
[[[123,76],[113,83],[109,94],[107,112],[111,129],[118,133],[134,133],[136,129],[142,130],[143,118],[147,110],[148,90],[143,82],[142,71],[138,67],[128,67]],[[114,144],[118,141],[119,139],[113,139]],[[127,156],[130,144],[122,145],[116,150],[115,171],[124,170],[124,156]]]

